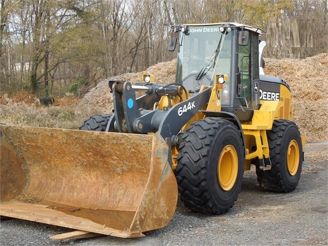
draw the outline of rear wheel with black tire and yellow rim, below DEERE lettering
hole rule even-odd
[[[301,177],[303,150],[300,131],[292,121],[276,120],[267,131],[271,169],[256,174],[264,190],[288,193],[295,190]]]

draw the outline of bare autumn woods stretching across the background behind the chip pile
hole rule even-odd
[[[272,18],[311,18],[313,47],[269,48],[267,55],[304,58],[328,52],[327,0],[0,0],[0,4],[2,91],[6,85],[11,91],[30,87],[33,93],[61,94],[172,60],[176,53],[167,52],[167,44],[178,35],[171,32],[173,24],[239,22],[267,29]],[[41,83],[44,90],[38,86]]]

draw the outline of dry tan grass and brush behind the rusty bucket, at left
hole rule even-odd
[[[55,99],[55,104],[45,107],[28,92],[17,92],[0,97],[0,122],[4,124],[78,129],[90,115],[100,113],[92,108],[81,108],[78,99]]]

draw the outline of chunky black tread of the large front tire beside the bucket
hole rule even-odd
[[[183,136],[177,156],[176,176],[181,199],[191,211],[224,214],[237,200],[240,190],[228,206],[217,207],[208,189],[207,160],[211,143],[217,131],[227,126],[237,129],[230,121],[205,118],[192,123]]]

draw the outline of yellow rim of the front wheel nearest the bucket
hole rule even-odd
[[[238,173],[238,155],[233,145],[226,145],[218,160],[218,180],[223,191],[234,186]]]

